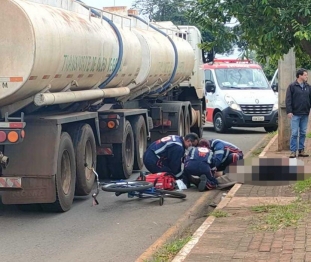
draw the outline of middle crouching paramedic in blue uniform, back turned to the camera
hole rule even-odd
[[[201,139],[198,147],[191,148],[184,160],[183,182],[187,187],[190,187],[190,183],[195,184],[200,192],[215,189],[218,185],[217,179],[211,172],[210,163],[213,153],[208,147],[208,141]],[[198,176],[200,179],[193,176]]]

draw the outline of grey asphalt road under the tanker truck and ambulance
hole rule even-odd
[[[204,138],[220,138],[239,146],[246,154],[266,134],[263,128],[231,129],[216,134],[204,130]],[[63,214],[23,212],[0,204],[0,260],[135,261],[168,228],[174,225],[200,193],[186,190],[186,200],[129,199],[101,192],[98,206],[90,197],[76,198]]]

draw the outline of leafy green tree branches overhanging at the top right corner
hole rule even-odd
[[[205,48],[245,42],[262,63],[277,61],[291,47],[298,60],[311,58],[311,0],[197,0],[188,17],[214,36]]]

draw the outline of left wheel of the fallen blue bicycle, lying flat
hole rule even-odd
[[[133,191],[144,191],[153,187],[152,183],[146,181],[115,182],[102,186],[103,191],[128,193]]]

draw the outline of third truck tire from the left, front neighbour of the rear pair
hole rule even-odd
[[[109,170],[114,179],[129,178],[134,165],[134,134],[128,120],[125,121],[123,143],[113,145],[114,156],[109,161]]]

